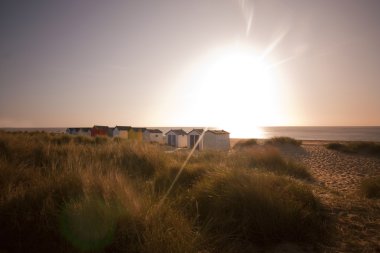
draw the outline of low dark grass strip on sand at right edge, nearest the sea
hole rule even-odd
[[[380,144],[374,142],[333,142],[326,145],[328,149],[350,154],[364,154],[380,158]]]

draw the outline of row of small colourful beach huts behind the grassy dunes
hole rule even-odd
[[[92,137],[119,137],[134,141],[167,144],[175,148],[193,148],[203,135],[203,138],[201,138],[201,140],[198,143],[198,146],[196,147],[198,150],[230,149],[230,133],[224,130],[204,130],[202,128],[199,128],[193,129],[187,133],[183,129],[171,129],[170,131],[164,134],[159,129],[148,129],[131,126],[108,127],[95,125],[93,127],[67,128],[66,133],[72,135]]]

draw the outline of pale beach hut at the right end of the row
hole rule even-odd
[[[229,150],[230,133],[224,130],[207,130],[202,140],[203,149]]]

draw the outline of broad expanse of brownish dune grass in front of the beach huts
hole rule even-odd
[[[325,237],[294,162],[271,149],[197,152],[167,194],[187,155],[0,132],[0,251],[242,252]]]

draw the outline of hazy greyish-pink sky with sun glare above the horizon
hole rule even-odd
[[[0,127],[380,125],[378,0],[2,0],[0,33]]]

